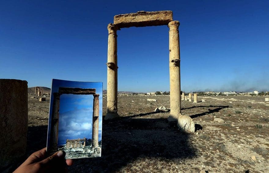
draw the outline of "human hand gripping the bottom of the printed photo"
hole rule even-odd
[[[46,157],[46,148],[43,148],[31,154],[13,173],[66,172],[66,166],[72,164],[72,159],[64,159],[63,151]]]

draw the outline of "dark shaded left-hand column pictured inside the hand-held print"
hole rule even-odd
[[[58,148],[58,126],[59,126],[59,109],[60,109],[60,93],[53,93],[53,107],[50,124],[50,145],[48,153],[57,152]]]

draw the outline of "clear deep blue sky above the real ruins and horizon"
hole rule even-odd
[[[104,82],[108,23],[137,11],[180,21],[181,89],[269,90],[269,1],[3,1],[0,78]],[[118,90],[168,91],[167,26],[123,28]]]

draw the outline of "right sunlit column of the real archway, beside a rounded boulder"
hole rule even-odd
[[[170,116],[168,121],[178,121],[181,115],[180,101],[180,55],[179,21],[168,23],[169,30],[169,74],[170,74]]]

